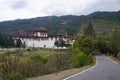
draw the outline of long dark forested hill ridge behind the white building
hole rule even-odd
[[[120,11],[117,12],[95,12],[82,16],[47,16],[31,19],[18,19],[13,21],[0,22],[0,32],[7,34],[27,34],[34,29],[45,27],[50,34],[65,33],[74,35],[81,32],[89,21],[92,21],[97,32],[104,32],[105,29],[112,29],[117,24]],[[105,28],[105,29],[104,29]]]

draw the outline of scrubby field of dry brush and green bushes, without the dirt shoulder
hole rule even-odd
[[[2,80],[24,80],[27,77],[84,66],[92,61],[92,56],[84,53],[75,54],[71,51],[58,51],[55,50],[52,54],[45,53],[46,57],[42,56],[43,54],[33,52],[31,55],[23,54],[23,51],[1,54],[0,78]]]

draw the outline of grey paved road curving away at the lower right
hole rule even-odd
[[[120,80],[120,65],[115,64],[103,55],[96,55],[97,64],[64,80]]]

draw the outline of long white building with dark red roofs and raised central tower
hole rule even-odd
[[[54,48],[55,42],[63,40],[66,44],[69,44],[69,37],[67,35],[48,35],[46,29],[37,29],[33,31],[32,36],[28,35],[15,35],[13,36],[14,42],[20,39],[22,44],[26,47],[41,47],[41,48]]]

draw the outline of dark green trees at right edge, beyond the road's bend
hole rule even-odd
[[[115,28],[111,36],[106,38],[98,38],[96,40],[96,48],[100,50],[100,52],[113,55],[116,58],[120,59],[120,30],[119,28]]]

